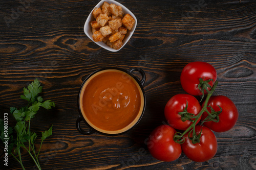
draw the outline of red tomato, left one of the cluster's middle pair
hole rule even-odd
[[[182,112],[186,107],[187,102],[187,112],[197,115],[201,111],[201,106],[198,100],[189,94],[176,94],[167,102],[164,108],[165,118],[170,126],[179,130],[186,130],[192,122],[186,120],[182,122],[181,115],[179,112]],[[200,118],[198,119],[198,122]],[[197,122],[197,123],[198,123]]]

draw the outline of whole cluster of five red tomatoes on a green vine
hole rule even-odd
[[[212,131],[225,132],[238,120],[234,103],[223,95],[211,96],[218,84],[216,69],[206,62],[188,63],[181,72],[181,85],[188,94],[176,94],[165,105],[168,125],[157,127],[147,148],[158,160],[174,161],[183,152],[189,159],[204,162],[217,153]],[[200,102],[193,95],[207,94]],[[178,132],[177,132],[178,131]]]

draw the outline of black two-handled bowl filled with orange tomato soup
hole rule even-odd
[[[132,74],[134,71],[141,75],[140,80]],[[108,67],[93,72],[79,90],[77,130],[84,135],[118,135],[132,129],[145,110],[144,83],[145,73],[140,68]],[[84,131],[81,122],[89,130]]]

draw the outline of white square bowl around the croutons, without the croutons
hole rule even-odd
[[[127,9],[126,7],[124,7],[122,4],[114,1],[114,0],[102,0],[100,1],[94,8],[99,8],[103,5],[104,2],[107,2],[109,4],[115,4],[117,6],[121,6],[122,7],[122,10],[123,10],[123,13],[124,15],[129,13],[130,15],[132,15],[132,17],[135,19],[135,23],[134,23],[134,26],[133,28],[130,30],[127,30],[127,34],[125,35],[124,39],[123,39],[123,45],[121,46],[121,48],[129,41],[129,39],[132,37],[133,35],[133,32],[137,26],[137,18],[135,17],[135,15],[129,10]],[[92,33],[92,26],[91,26],[91,22],[93,20],[95,20],[94,16],[93,16],[93,10],[91,11],[91,13],[89,14],[87,20],[86,20],[86,23],[84,23],[84,27],[83,27],[83,31],[84,33],[86,33],[86,35],[93,41],[93,33]],[[114,48],[111,48],[110,46],[106,45],[104,42],[95,42],[97,45],[101,46],[102,48],[105,48],[106,50],[108,51],[111,51],[111,52],[118,52],[119,50],[121,50],[121,48],[119,48],[118,50],[115,50]]]

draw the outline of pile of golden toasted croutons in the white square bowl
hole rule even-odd
[[[104,2],[101,8],[93,10],[96,20],[91,22],[93,40],[102,41],[110,47],[118,50],[122,45],[122,40],[133,28],[135,19],[130,14],[125,14],[122,7]]]

